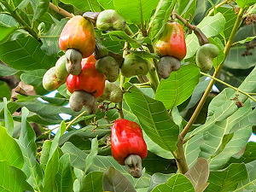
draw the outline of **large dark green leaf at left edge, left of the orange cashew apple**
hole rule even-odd
[[[34,70],[54,66],[55,58],[45,55],[41,44],[31,36],[0,44],[0,60],[18,70]]]

